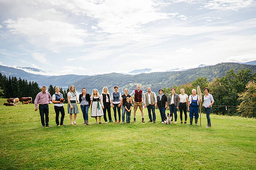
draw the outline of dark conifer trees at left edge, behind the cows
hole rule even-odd
[[[0,97],[3,98],[17,98],[17,97],[32,97],[34,102],[37,93],[41,90],[37,82],[31,82],[24,79],[17,79],[16,77],[7,78],[0,73]]]

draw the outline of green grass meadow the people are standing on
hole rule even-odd
[[[94,124],[57,127],[49,105],[51,128],[41,128],[34,105],[3,106],[0,99],[0,169],[256,169],[256,120],[211,115],[212,127],[179,123]],[[64,105],[67,110],[67,104]],[[79,107],[80,109],[80,107]],[[168,112],[168,111],[167,111]],[[179,115],[179,113],[178,113]],[[112,118],[113,111],[112,111]],[[133,119],[133,112],[131,115]],[[102,117],[103,120],[103,117]],[[193,122],[194,124],[194,122]]]

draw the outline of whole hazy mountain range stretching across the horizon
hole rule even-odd
[[[250,62],[249,62],[250,63]],[[255,63],[253,61],[251,63]],[[96,88],[101,92],[103,86],[107,86],[109,91],[112,91],[113,86],[119,86],[120,92],[123,89],[136,89],[137,84],[142,84],[142,89],[146,89],[147,86],[151,86],[152,91],[157,92],[159,88],[171,87],[174,84],[184,84],[194,81],[197,77],[207,77],[209,81],[213,78],[222,77],[226,71],[234,69],[249,68],[256,72],[256,65],[239,64],[239,63],[219,63],[216,65],[200,65],[201,67],[192,68],[185,71],[167,71],[167,72],[155,72],[155,73],[140,73],[136,75],[125,75],[121,73],[109,73],[95,76],[79,76],[74,74],[62,75],[62,76],[43,76],[40,74],[27,73],[23,70],[6,67],[0,65],[0,73],[6,76],[16,76],[27,79],[28,81],[34,81],[39,86],[70,86],[74,84],[77,89],[86,87],[88,93],[91,93],[93,88]],[[149,70],[149,68],[147,68]],[[138,70],[137,70],[138,71]],[[136,72],[136,71],[135,71]]]

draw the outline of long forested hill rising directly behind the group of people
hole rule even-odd
[[[119,86],[119,91],[127,88],[129,90],[136,89],[136,84],[142,84],[142,89],[146,90],[147,86],[151,86],[153,92],[158,92],[158,89],[170,87],[174,84],[185,84],[194,81],[197,77],[207,77],[209,81],[213,78],[222,77],[226,71],[234,69],[249,68],[256,71],[256,65],[245,65],[238,63],[220,63],[217,65],[206,66],[203,68],[193,68],[187,71],[170,71],[170,72],[155,72],[141,73],[137,75],[123,75],[119,73],[109,73],[98,76],[90,76],[81,79],[75,83],[77,88],[87,88],[88,93],[91,93],[93,88],[101,92],[103,86],[107,86],[111,91],[115,85]]]

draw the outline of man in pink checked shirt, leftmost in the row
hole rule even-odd
[[[35,111],[37,111],[37,103],[39,104],[39,113],[41,117],[42,128],[45,126],[52,127],[49,125],[49,106],[48,103],[51,101],[51,94],[46,92],[46,87],[42,87],[42,92],[37,94],[35,98]],[[44,120],[45,115],[45,120]]]

